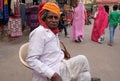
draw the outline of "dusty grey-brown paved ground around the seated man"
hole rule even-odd
[[[115,33],[113,47],[107,45],[109,31],[106,30],[105,42],[98,44],[90,40],[92,25],[85,26],[85,41],[75,43],[64,34],[60,40],[64,42],[72,56],[84,54],[87,56],[92,77],[101,81],[120,81],[120,30]],[[20,46],[28,41],[28,35],[11,41],[0,41],[0,81],[31,81],[31,70],[24,67],[18,58]]]

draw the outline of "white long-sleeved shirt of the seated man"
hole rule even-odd
[[[39,26],[31,32],[29,38],[27,62],[34,71],[33,81],[47,81],[55,72],[59,73],[64,58],[58,35]]]

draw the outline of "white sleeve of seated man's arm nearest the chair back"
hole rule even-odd
[[[55,71],[49,66],[39,60],[43,54],[44,49],[44,33],[41,31],[32,32],[29,40],[28,56],[26,61],[34,71],[38,72],[42,76],[51,78]]]

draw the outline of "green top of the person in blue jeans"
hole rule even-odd
[[[120,12],[119,11],[112,11],[109,15],[109,25],[110,26],[117,26],[120,23]]]

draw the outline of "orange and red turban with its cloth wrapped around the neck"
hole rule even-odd
[[[53,2],[47,2],[47,3],[40,3],[39,4],[39,12],[38,12],[38,19],[39,19],[39,23],[44,26],[45,28],[50,29],[46,23],[42,20],[42,16],[44,15],[45,11],[48,10],[50,12],[55,13],[59,18],[60,18],[60,9],[59,7],[53,3]],[[58,33],[58,27],[56,27],[56,29],[52,30],[53,33]]]

